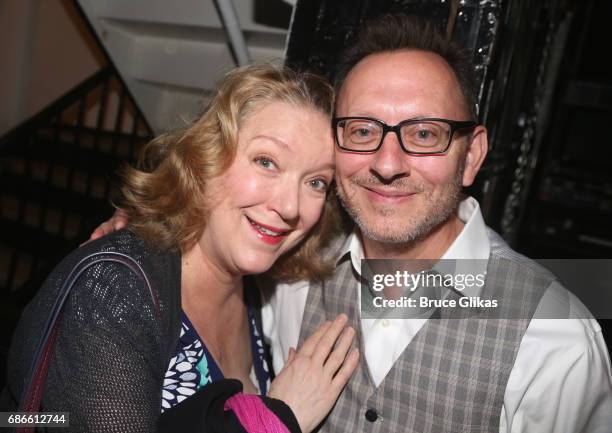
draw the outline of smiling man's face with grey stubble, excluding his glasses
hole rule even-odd
[[[470,120],[450,67],[422,51],[363,59],[340,91],[336,115],[373,117],[387,125],[425,117]],[[376,153],[336,148],[338,193],[364,236],[385,244],[409,243],[450,227],[462,186],[472,183],[480,167],[481,159],[473,161],[469,148],[483,131],[455,133],[443,155],[408,155],[394,133]]]

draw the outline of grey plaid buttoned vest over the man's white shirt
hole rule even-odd
[[[554,277],[512,251],[494,232],[489,231],[489,238],[491,257],[481,297],[501,300],[496,317],[511,319],[490,317],[486,310],[457,319],[440,310],[441,318],[426,322],[378,388],[362,355],[320,431],[499,431],[504,391],[521,339]],[[311,285],[300,342],[325,320],[346,313],[357,330],[357,346],[363,347],[358,278],[345,257],[330,280]]]

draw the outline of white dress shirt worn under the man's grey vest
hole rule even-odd
[[[488,259],[490,242],[478,202],[473,198],[459,206],[465,226],[443,259]],[[349,252],[361,271],[363,247],[351,234],[341,255]],[[289,347],[296,347],[309,284],[279,284],[262,310],[263,330],[269,339],[274,368],[280,371]],[[358,287],[355,287],[358,291]],[[551,286],[540,305],[554,304],[567,296],[559,285]],[[500,433],[611,433],[612,374],[601,328],[585,307],[571,297],[571,319],[531,320],[508,378],[500,414]],[[536,311],[534,317],[549,317]],[[362,356],[376,386],[426,319],[361,319]]]

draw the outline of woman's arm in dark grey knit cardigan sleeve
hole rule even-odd
[[[52,275],[50,281],[58,279]],[[52,291],[45,286],[41,290]],[[21,334],[47,317],[49,309],[49,302],[28,308]],[[155,431],[164,368],[162,334],[147,288],[135,274],[108,262],[91,267],[64,307],[42,409],[70,412],[71,431]],[[31,359],[33,350],[32,345],[17,348],[25,359]],[[29,362],[20,367],[22,375],[28,367]]]

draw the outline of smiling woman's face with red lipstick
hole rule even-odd
[[[280,101],[257,107],[241,122],[232,165],[209,182],[206,258],[230,274],[268,270],[321,216],[333,152],[319,111]]]

